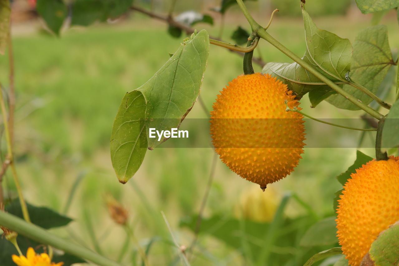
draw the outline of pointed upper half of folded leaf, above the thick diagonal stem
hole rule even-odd
[[[352,56],[350,41],[318,29],[304,9],[302,15],[307,48],[304,57],[330,79],[331,77],[336,80],[345,79],[345,74],[350,70]]]

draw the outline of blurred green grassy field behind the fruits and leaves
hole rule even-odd
[[[280,13],[276,14],[268,32],[302,56],[304,27],[298,17],[297,2],[259,0],[247,3],[256,19],[264,24],[269,20],[270,11],[279,8]],[[361,15],[351,1],[306,2],[319,28],[349,38],[351,42],[360,30],[370,25],[371,16]],[[221,17],[209,10],[217,3],[178,0],[176,14],[193,8],[205,10],[214,17],[215,25],[197,24],[196,28],[205,28],[210,35],[218,36]],[[148,2],[136,4],[150,8]],[[162,13],[170,2],[155,1],[154,5],[154,12]],[[399,35],[395,14],[388,13],[381,23],[388,26],[390,46],[396,49]],[[55,230],[57,234],[90,248],[98,245],[105,256],[117,259],[126,233],[107,212],[105,197],[111,194],[128,209],[129,224],[140,244],[146,248],[152,242],[148,255],[151,265],[179,265],[178,249],[172,243],[160,212],[168,218],[178,243],[190,246],[194,238],[190,226],[195,227],[207,188],[213,150],[157,148],[149,151],[140,170],[122,185],[112,169],[109,139],[124,93],[152,77],[184,37],[172,38],[165,24],[139,13],[108,24],[65,29],[61,38],[46,33],[42,25],[34,19],[15,22],[12,28],[17,91],[16,157],[26,199],[32,204],[63,212],[73,184],[79,180],[67,212],[74,222],[68,230]],[[249,28],[234,6],[225,15],[221,37],[231,41],[230,36],[237,26]],[[261,55],[265,62],[291,62],[264,40],[258,47],[254,54]],[[256,66],[255,71],[260,70]],[[201,97],[208,110],[219,90],[241,73],[240,56],[220,47],[210,47],[201,88]],[[0,58],[0,81],[8,86],[6,56]],[[361,114],[336,109],[326,102],[310,109],[307,96],[301,102],[305,113],[318,118],[351,118]],[[198,103],[187,116],[206,117]],[[2,151],[4,155],[4,143]],[[373,156],[373,149],[362,151]],[[300,242],[314,222],[334,216],[334,193],[340,189],[335,177],[352,164],[355,155],[356,149],[305,149],[294,173],[271,184],[265,197],[253,196],[258,185],[241,179],[217,159],[191,264],[296,266],[302,265],[315,252],[337,246],[329,243],[309,247]],[[6,197],[16,197],[9,173],[3,187]],[[287,191],[294,196],[289,199],[282,220],[270,230],[274,211]],[[248,197],[255,198],[247,200]],[[256,200],[263,203],[258,204]],[[257,204],[260,207],[256,207]],[[271,214],[257,218],[256,214],[245,217],[240,212],[253,206],[253,213],[271,210]],[[257,263],[259,256],[265,253],[267,263]],[[133,243],[129,244],[122,262],[141,265]]]

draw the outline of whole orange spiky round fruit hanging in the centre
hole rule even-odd
[[[234,173],[261,188],[290,174],[304,146],[304,120],[287,85],[270,75],[240,75],[211,111],[215,151]],[[298,110],[300,108],[298,107]]]

